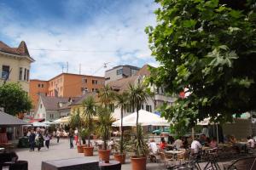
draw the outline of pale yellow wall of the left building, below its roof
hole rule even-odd
[[[25,57],[13,54],[3,54],[0,52],[0,84],[4,82],[2,78],[3,65],[9,65],[9,80],[7,82],[19,82],[21,87],[28,93],[29,92],[29,77],[24,80],[25,69],[30,74],[31,61]],[[22,68],[21,79],[19,79],[20,68]]]

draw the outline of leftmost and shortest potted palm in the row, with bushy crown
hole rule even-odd
[[[70,127],[75,129],[76,127],[78,127],[79,129],[79,144],[77,145],[77,149],[79,153],[84,153],[83,147],[85,146],[85,144],[82,144],[81,142],[81,133],[82,133],[82,127],[84,124],[84,120],[81,118],[81,113],[80,110],[77,109],[74,111],[74,113],[72,114],[72,116],[70,116]]]

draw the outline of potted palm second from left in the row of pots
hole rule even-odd
[[[93,131],[93,116],[96,116],[96,102],[92,96],[83,101],[85,129],[88,130],[88,144],[84,146],[84,156],[93,156],[93,146],[90,145],[90,134]]]

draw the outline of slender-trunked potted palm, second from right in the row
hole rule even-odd
[[[122,94],[115,95],[116,107],[120,108],[121,111],[121,139],[118,144],[117,152],[113,155],[116,161],[119,161],[121,164],[125,163],[125,143],[124,143],[124,128],[123,128],[123,117],[124,111],[126,111],[129,104],[128,93],[124,92]]]

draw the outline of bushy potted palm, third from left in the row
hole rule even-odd
[[[101,135],[103,144],[103,150],[99,151],[99,158],[102,161],[109,162],[110,150],[108,150],[108,139],[110,137],[111,125],[113,123],[113,117],[108,107],[98,107],[98,133]]]

